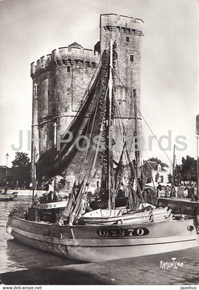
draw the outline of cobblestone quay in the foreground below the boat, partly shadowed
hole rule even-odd
[[[180,261],[177,269],[161,269],[160,261]],[[31,267],[0,275],[3,284],[55,285],[196,285],[198,278],[199,247],[103,262],[69,264],[56,267]],[[47,263],[47,261],[46,261]],[[77,261],[76,261],[77,263]]]

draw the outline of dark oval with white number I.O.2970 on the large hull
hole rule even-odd
[[[96,231],[100,237],[129,237],[129,236],[140,236],[148,235],[149,230],[146,228],[135,228],[135,229],[99,229]]]

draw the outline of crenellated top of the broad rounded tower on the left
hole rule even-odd
[[[98,52],[91,49],[83,48],[80,44],[74,42],[66,47],[56,48],[52,53],[40,57],[37,61],[33,61],[30,66],[30,75],[34,78],[39,73],[50,70],[52,65],[73,65],[97,67],[99,58]]]

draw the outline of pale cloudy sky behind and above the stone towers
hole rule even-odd
[[[173,144],[178,135],[187,138],[182,156],[197,156],[198,114],[198,1],[197,0],[109,0],[109,13],[144,21],[141,50],[142,115],[153,133],[168,135]],[[30,63],[55,48],[77,41],[93,49],[100,40],[100,14],[107,13],[107,0],[1,0],[0,1],[0,165],[15,158],[23,130],[32,121]],[[142,122],[146,144],[151,135]],[[167,147],[167,142],[162,142]],[[158,156],[169,164],[155,140],[148,157]],[[147,145],[148,147],[148,145]],[[180,146],[179,146],[180,147]],[[182,147],[182,146],[181,146]],[[30,156],[30,152],[29,152]],[[144,159],[147,158],[144,153]],[[170,165],[170,164],[169,164]]]

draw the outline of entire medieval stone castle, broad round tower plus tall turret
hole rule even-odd
[[[33,170],[34,147],[39,156],[52,148],[53,125],[65,130],[81,108],[88,85],[95,79],[95,72],[104,49],[108,49],[107,37],[117,44],[117,61],[115,72],[116,106],[119,108],[125,133],[133,139],[135,131],[133,89],[137,92],[137,106],[140,110],[140,38],[142,36],[142,20],[116,14],[100,16],[100,41],[94,51],[83,48],[77,42],[52,51],[31,64],[33,80],[32,93],[32,152],[31,170]],[[122,86],[122,84],[124,86]],[[124,88],[125,87],[125,88]],[[129,95],[128,95],[128,93]],[[86,116],[88,117],[88,116]],[[117,114],[115,115],[117,119]],[[141,118],[138,112],[139,135],[142,135]],[[117,120],[115,120],[117,122]],[[115,130],[115,129],[114,129]],[[123,130],[123,129],[121,129]],[[38,138],[44,133],[43,149]],[[113,131],[117,138],[117,132]],[[124,135],[124,133],[123,133]],[[125,136],[124,136],[125,137]],[[125,137],[126,138],[126,137]],[[122,147],[122,140],[119,140]],[[120,156],[115,150],[115,159]],[[39,157],[38,156],[38,157]],[[131,155],[134,159],[134,156]],[[32,176],[32,173],[31,173]],[[100,183],[97,175],[92,186]],[[95,179],[95,178],[94,178]],[[70,178],[70,186],[72,181]]]

